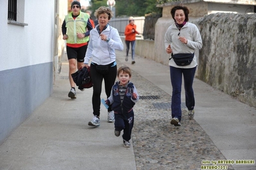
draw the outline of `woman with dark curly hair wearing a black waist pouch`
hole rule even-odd
[[[194,73],[196,72],[196,56],[194,51],[201,49],[202,40],[200,31],[196,25],[189,21],[189,9],[186,6],[175,6],[171,9],[171,16],[175,23],[168,27],[164,38],[167,54],[171,54],[169,60],[171,85],[173,93],[171,97],[171,125],[180,126],[182,119],[181,109],[181,91],[182,91],[182,75],[184,77],[185,88],[185,104],[188,109],[189,119],[194,118],[194,91],[192,88]],[[176,54],[176,55],[175,55]],[[176,58],[183,58],[187,54],[190,59],[187,63],[181,65]],[[174,56],[173,56],[174,55]],[[174,57],[175,60],[174,60]]]

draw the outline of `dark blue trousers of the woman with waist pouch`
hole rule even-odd
[[[184,79],[185,104],[189,111],[194,109],[194,91],[192,88],[194,73],[196,73],[196,66],[194,68],[176,68],[170,66],[171,85],[173,86],[173,95],[171,97],[172,118],[182,119],[182,75]]]

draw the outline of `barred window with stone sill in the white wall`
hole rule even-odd
[[[28,26],[24,23],[25,0],[8,0],[8,24]]]

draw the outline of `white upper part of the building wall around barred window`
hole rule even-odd
[[[7,24],[8,1],[0,2],[0,71],[52,62],[55,1],[25,1],[24,23],[28,26]]]

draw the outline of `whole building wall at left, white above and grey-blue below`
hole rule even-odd
[[[17,1],[22,26],[0,0],[0,144],[53,91],[55,1]]]

